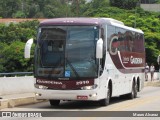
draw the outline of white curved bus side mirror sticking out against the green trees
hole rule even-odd
[[[29,39],[26,42],[25,49],[24,49],[24,58],[30,58],[32,44],[33,44],[33,38]]]

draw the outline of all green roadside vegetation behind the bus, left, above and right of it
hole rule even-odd
[[[159,2],[159,1],[157,1]],[[110,17],[145,34],[146,61],[154,63],[160,54],[160,13],[144,11],[138,0],[1,0],[1,18]],[[0,72],[32,71],[32,59],[24,59],[24,45],[36,39],[39,21],[0,24]],[[32,50],[34,53],[34,49]],[[32,54],[33,55],[33,54]]]

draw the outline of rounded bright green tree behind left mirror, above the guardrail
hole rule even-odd
[[[24,59],[25,43],[12,42],[6,46],[1,53],[3,58],[3,72],[31,71],[33,70],[33,59]]]

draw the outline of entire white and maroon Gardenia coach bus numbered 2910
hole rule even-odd
[[[112,18],[54,18],[39,24],[37,39],[25,45],[25,58],[35,43],[34,77],[37,99],[130,99],[144,87],[145,47],[142,30]]]

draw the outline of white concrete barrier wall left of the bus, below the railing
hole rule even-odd
[[[34,93],[34,77],[0,77],[0,96]]]

